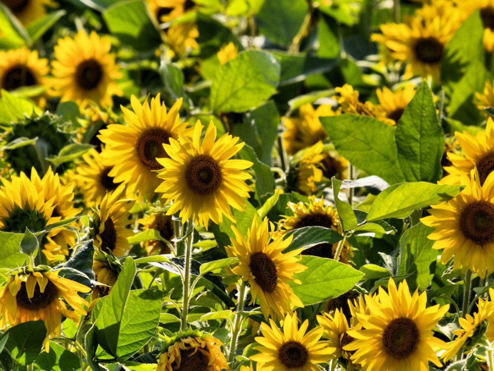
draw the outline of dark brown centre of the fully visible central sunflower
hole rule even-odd
[[[185,181],[190,190],[210,194],[219,188],[223,176],[216,160],[208,155],[194,157],[185,169]]]

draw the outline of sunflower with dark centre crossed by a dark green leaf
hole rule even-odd
[[[335,232],[343,234],[343,228],[338,217],[338,212],[331,205],[325,205],[324,197],[317,199],[316,196],[309,196],[309,203],[288,202],[287,207],[293,212],[293,216],[281,219],[278,222],[278,233],[286,232],[303,227],[325,227]],[[321,258],[332,259],[338,247],[338,243],[320,243],[302,251],[303,255],[314,255]],[[350,245],[345,241],[344,248],[340,255],[340,261],[348,263],[348,256],[352,256]]]

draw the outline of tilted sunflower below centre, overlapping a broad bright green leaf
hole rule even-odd
[[[272,225],[271,230],[273,228]],[[283,253],[293,236],[285,240],[279,237],[270,242],[272,233],[268,232],[268,218],[264,218],[259,227],[257,218],[254,218],[247,231],[247,238],[234,225],[232,231],[235,239],[231,239],[232,246],[227,247],[227,252],[230,256],[239,258],[239,264],[232,272],[249,283],[252,296],[250,304],[259,298],[264,317],[267,319],[271,314],[275,320],[283,319],[286,313],[291,313],[294,305],[303,307],[287,283],[300,283],[293,275],[307,269],[298,263],[300,258],[296,257],[302,251],[301,248]]]

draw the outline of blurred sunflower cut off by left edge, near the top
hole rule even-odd
[[[0,51],[0,88],[7,92],[37,85],[46,87],[49,71],[48,59],[40,58],[37,50],[22,47]],[[41,101],[41,95],[33,98]]]

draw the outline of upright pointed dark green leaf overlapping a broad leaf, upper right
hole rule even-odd
[[[408,182],[433,182],[443,176],[444,133],[432,92],[424,81],[396,127],[398,161]]]

